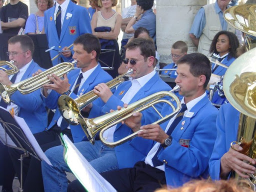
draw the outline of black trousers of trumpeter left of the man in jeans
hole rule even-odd
[[[61,131],[56,124],[48,131],[35,133],[34,137],[44,152],[48,148],[61,144],[59,139],[60,132],[66,134],[69,139],[73,141],[70,129],[64,129]],[[20,150],[9,148],[10,158],[18,177],[20,176],[20,161],[18,159],[22,153],[23,152]],[[44,191],[41,173],[41,161],[33,156],[23,158],[23,191]]]

